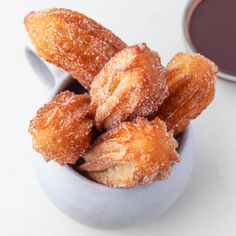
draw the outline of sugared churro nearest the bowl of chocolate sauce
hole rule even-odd
[[[209,59],[194,53],[176,54],[167,69],[170,95],[157,115],[177,135],[213,100],[218,69]]]

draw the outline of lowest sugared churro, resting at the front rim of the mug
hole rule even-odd
[[[81,170],[112,187],[148,184],[169,176],[171,163],[179,162],[177,142],[165,122],[138,117],[101,135],[83,155]]]

